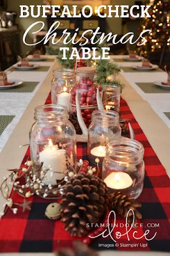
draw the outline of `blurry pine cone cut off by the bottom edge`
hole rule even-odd
[[[81,241],[73,242],[73,250],[72,249],[59,249],[56,252],[56,256],[98,256],[98,253],[89,248],[86,244]]]

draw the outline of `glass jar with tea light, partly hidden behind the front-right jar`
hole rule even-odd
[[[98,158],[99,164],[102,164],[107,143],[114,138],[120,138],[119,119],[120,115],[111,110],[97,110],[92,113],[88,129],[88,157],[91,163],[95,164],[95,159]]]

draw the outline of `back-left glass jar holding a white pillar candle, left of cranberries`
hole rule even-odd
[[[51,83],[51,102],[66,106],[70,111],[70,91],[75,84],[75,72],[72,69],[54,70]]]

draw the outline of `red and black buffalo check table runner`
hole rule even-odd
[[[50,103],[50,97],[47,99]],[[158,160],[153,148],[151,148],[146,136],[139,124],[137,124],[132,112],[128,108],[127,102],[121,99],[121,117],[129,118],[135,132],[135,138],[144,145],[145,179],[144,189],[138,201],[142,203],[141,213],[143,220],[138,222],[138,228],[132,228],[128,236],[116,238],[116,232],[126,233],[125,221],[116,216],[118,227],[112,231],[110,236],[90,239],[84,237],[84,243],[90,243],[98,250],[145,250],[145,251],[170,251],[170,182],[166,170]],[[161,147],[161,145],[160,145]],[[77,144],[77,159],[88,159],[86,143]],[[24,164],[29,157],[29,149],[24,157]],[[22,202],[23,198],[16,196],[17,202]],[[8,211],[0,221],[0,252],[53,252],[59,246],[71,246],[75,237],[70,237],[63,228],[61,221],[47,220],[45,209],[49,200],[43,200],[34,196],[30,198],[31,211],[22,213],[19,209],[17,214]],[[104,220],[106,221],[106,220]],[[102,221],[101,221],[102,222]],[[120,223],[123,227],[120,227]],[[101,229],[101,230],[104,230]],[[144,232],[150,230],[144,238]],[[140,239],[134,239],[141,237]],[[157,232],[157,233],[156,233]],[[98,232],[96,234],[99,234]],[[155,234],[156,233],[156,234]],[[151,237],[155,237],[151,239]],[[93,233],[93,236],[95,234]],[[151,239],[151,240],[149,240]],[[102,244],[102,245],[101,245]]]

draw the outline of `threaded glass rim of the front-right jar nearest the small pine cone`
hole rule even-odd
[[[119,164],[139,164],[143,161],[144,147],[137,140],[121,137],[109,141],[106,156]]]

